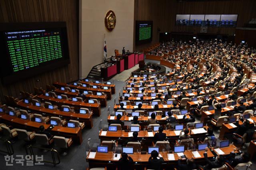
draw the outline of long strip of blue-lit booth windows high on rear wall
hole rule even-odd
[[[237,14],[177,14],[176,25],[236,27]]]

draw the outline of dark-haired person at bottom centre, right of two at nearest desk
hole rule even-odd
[[[161,155],[158,157],[158,152],[153,150],[148,159],[148,169],[161,170],[161,164],[164,163],[164,158]]]

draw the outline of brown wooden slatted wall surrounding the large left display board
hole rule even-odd
[[[34,92],[34,87],[46,88],[52,82],[71,82],[78,79],[78,1],[77,0],[0,0],[0,22],[66,21],[70,64],[3,86],[4,95],[18,96],[21,90]],[[36,80],[39,80],[36,81]]]

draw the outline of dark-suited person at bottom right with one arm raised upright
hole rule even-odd
[[[205,152],[204,152],[204,158],[206,161],[206,166],[204,166],[204,170],[210,170],[212,168],[219,168],[224,164],[224,156],[223,155],[218,155],[216,159],[209,160],[207,157],[207,150],[208,148],[206,147]]]

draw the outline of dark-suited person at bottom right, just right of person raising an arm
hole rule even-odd
[[[234,152],[241,152],[238,148],[234,148],[232,152],[230,152],[229,157],[227,158],[228,164],[230,164],[232,167],[235,167],[237,164],[246,163],[250,161],[250,154],[248,152],[244,152],[241,154],[240,158],[235,158],[236,154]]]

